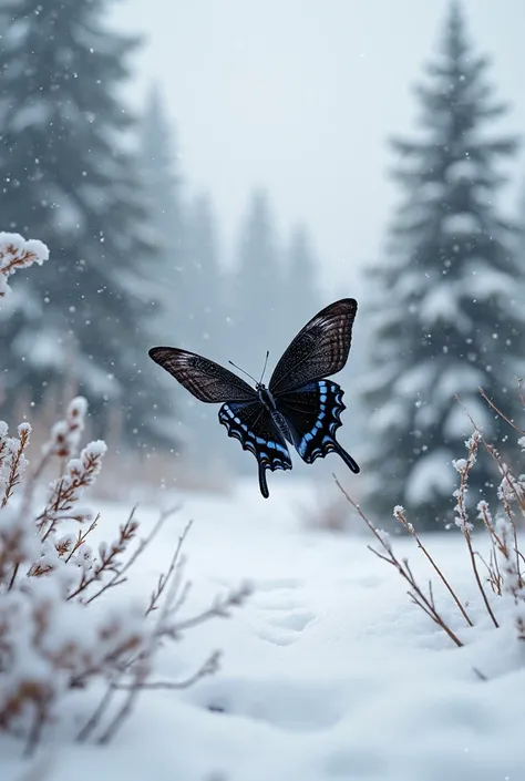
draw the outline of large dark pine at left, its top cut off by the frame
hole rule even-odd
[[[104,28],[106,4],[12,0],[0,18],[2,227],[51,251],[6,323],[3,381],[38,405],[50,384],[76,380],[96,433],[117,407],[140,444],[166,433],[146,352],[156,264],[117,97],[137,40]]]

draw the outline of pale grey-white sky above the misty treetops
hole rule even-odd
[[[494,58],[505,132],[525,134],[525,0],[464,0],[477,53]],[[254,186],[282,238],[303,220],[323,281],[350,289],[378,256],[395,203],[385,140],[413,129],[411,85],[435,52],[446,0],[123,0],[112,21],[148,43],[133,102],[157,80],[188,192],[209,191],[231,246]],[[505,197],[517,206],[523,155]]]

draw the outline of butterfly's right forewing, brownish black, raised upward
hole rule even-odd
[[[277,363],[269,382],[271,392],[285,393],[341,371],[357,310],[356,299],[342,298],[307,322]]]

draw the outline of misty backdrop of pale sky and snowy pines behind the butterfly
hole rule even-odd
[[[455,395],[494,435],[480,386],[522,412],[523,3],[14,0],[0,27],[1,227],[51,251],[0,314],[6,419],[81,392],[113,481],[255,480],[147,349],[258,377],[352,296],[352,485],[443,517]]]

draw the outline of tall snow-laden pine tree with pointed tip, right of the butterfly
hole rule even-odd
[[[418,90],[422,134],[397,141],[395,172],[405,192],[391,232],[388,263],[375,279],[369,350],[373,369],[366,401],[373,436],[366,472],[369,503],[383,517],[403,504],[420,527],[451,517],[457,484],[453,459],[465,455],[471,424],[503,436],[478,387],[509,414],[515,374],[523,373],[522,270],[512,253],[513,226],[495,207],[501,158],[513,138],[484,132],[505,106],[486,81],[457,4],[452,4],[441,56]],[[490,459],[472,473],[475,504],[494,480]]]

